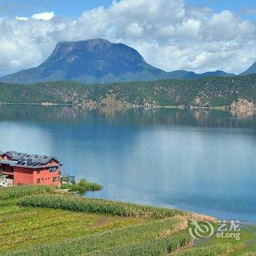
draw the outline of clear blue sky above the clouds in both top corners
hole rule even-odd
[[[34,12],[50,12],[78,18],[84,10],[109,7],[112,0],[0,0],[0,15],[7,17],[31,16]],[[256,20],[255,0],[186,0],[187,4],[210,7],[215,12],[230,10],[241,18]]]

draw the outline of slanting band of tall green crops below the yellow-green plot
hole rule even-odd
[[[16,252],[5,252],[4,256],[75,256],[91,255],[93,252],[97,253],[97,255],[99,252],[101,253],[99,255],[109,255],[111,253],[110,248],[114,248],[113,251],[116,251],[116,246],[118,247],[119,252],[127,251],[127,247],[131,246],[134,250],[134,255],[139,256],[143,244],[148,248],[147,251],[144,251],[144,255],[150,250],[153,251],[154,247],[156,247],[155,253],[170,252],[172,248],[174,249],[178,248],[178,246],[184,246],[192,241],[192,238],[187,233],[172,234],[177,230],[177,227],[183,227],[183,225],[184,218],[181,217],[159,219],[141,225],[116,228],[102,233],[95,233],[91,236],[69,238],[64,241],[33,246]],[[167,230],[170,231],[170,233],[167,233],[167,236],[162,236],[162,233],[166,233]],[[107,254],[107,252],[104,251],[108,251],[108,249],[110,249],[110,251]]]

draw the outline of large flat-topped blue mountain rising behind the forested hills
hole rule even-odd
[[[132,80],[194,79],[230,76],[223,71],[196,74],[186,70],[165,72],[146,63],[137,50],[105,39],[59,42],[53,53],[38,67],[22,70],[0,79],[6,83],[37,83],[50,80],[76,80],[82,83],[108,83]]]

